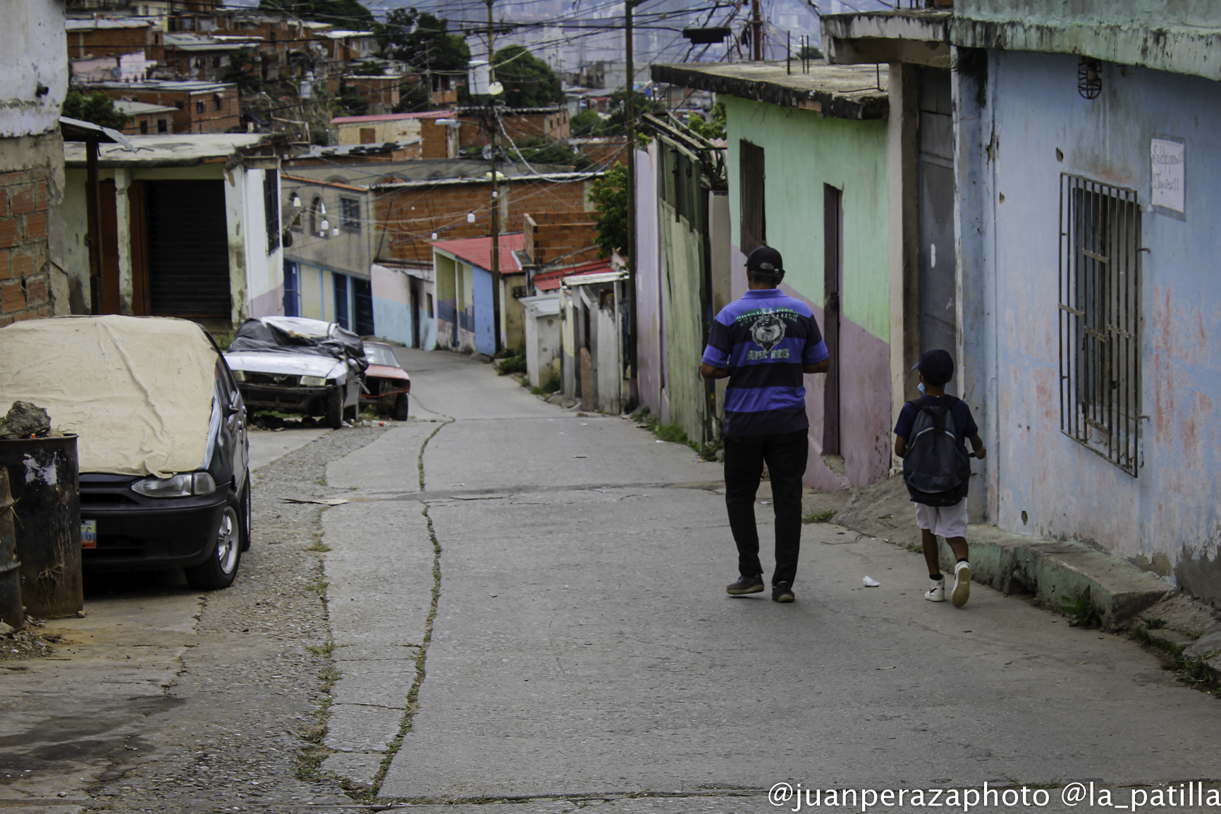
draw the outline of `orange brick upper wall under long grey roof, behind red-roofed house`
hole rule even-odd
[[[535,222],[551,215],[580,216],[589,203],[590,173],[509,176],[499,181],[501,231],[521,232],[529,212]],[[372,187],[381,236],[377,262],[427,265],[432,234],[452,240],[491,233],[492,182],[471,178],[425,179]],[[468,220],[474,215],[474,220]]]

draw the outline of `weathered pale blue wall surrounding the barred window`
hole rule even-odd
[[[1087,100],[1074,56],[989,54],[980,143],[960,142],[973,166],[958,173],[971,181],[960,206],[984,211],[979,225],[960,211],[958,233],[972,244],[961,256],[983,264],[960,272],[974,315],[965,361],[995,399],[991,517],[1095,543],[1221,598],[1221,83],[1105,65],[1101,96]],[[1186,220],[1149,206],[1155,135],[1186,142]],[[1133,188],[1143,210],[1136,477],[1060,431],[1063,172]]]

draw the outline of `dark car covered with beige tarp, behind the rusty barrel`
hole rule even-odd
[[[37,364],[29,364],[37,360]],[[245,406],[194,322],[61,316],[0,328],[0,402],[78,436],[87,571],[183,567],[232,585],[250,547]]]

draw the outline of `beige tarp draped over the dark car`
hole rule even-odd
[[[79,436],[82,472],[198,470],[208,447],[216,350],[194,322],[65,316],[0,328],[0,415],[45,408]]]

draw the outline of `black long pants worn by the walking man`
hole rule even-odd
[[[737,543],[737,572],[763,574],[755,526],[755,494],[767,461],[775,509],[775,572],[772,585],[794,581],[801,552],[801,476],[810,455],[808,431],[725,437],[725,506]]]

